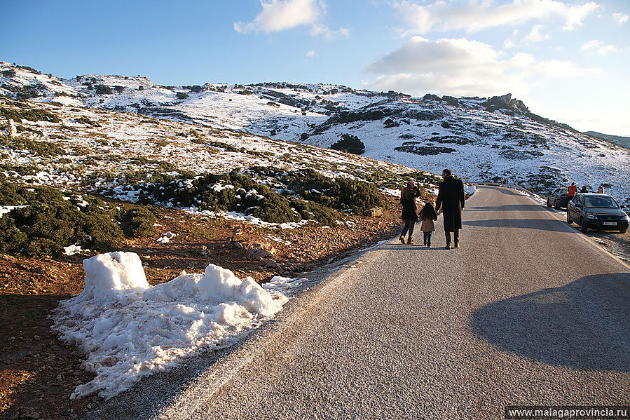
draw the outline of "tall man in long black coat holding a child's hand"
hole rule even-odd
[[[455,248],[459,246],[459,230],[462,229],[462,210],[464,208],[464,183],[453,177],[451,170],[442,171],[444,181],[439,183],[435,211],[442,208],[444,217],[444,233],[446,233],[446,249],[451,249],[451,232]]]

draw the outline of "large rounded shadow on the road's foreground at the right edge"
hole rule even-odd
[[[493,302],[470,323],[482,338],[526,358],[630,372],[630,273],[587,276]]]

